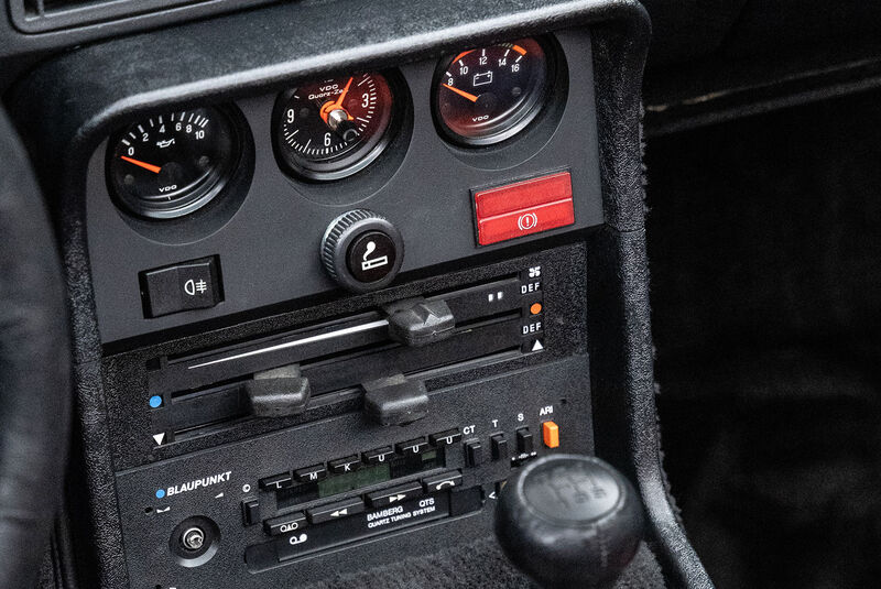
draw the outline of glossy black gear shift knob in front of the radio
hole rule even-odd
[[[542,587],[611,587],[639,547],[642,504],[630,481],[602,460],[545,456],[505,484],[496,535]]]

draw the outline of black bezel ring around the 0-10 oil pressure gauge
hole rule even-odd
[[[153,112],[143,113],[111,134],[107,143],[105,178],[110,197],[117,205],[117,208],[138,218],[151,221],[168,221],[196,212],[224,193],[230,178],[232,178],[241,165],[243,145],[246,142],[244,118],[239,110],[231,105],[197,105],[183,110],[196,109],[210,109],[214,111],[214,116],[217,116],[218,120],[222,121],[222,124],[225,124],[229,131],[231,151],[224,156],[220,164],[214,167],[207,178],[203,179],[192,189],[186,190],[183,196],[176,198],[172,206],[156,206],[162,203],[133,197],[116,182],[115,174],[112,173],[112,165],[116,161],[113,154],[116,153],[117,146],[133,124],[149,117],[157,117],[170,111],[176,111],[177,109],[157,109]]]

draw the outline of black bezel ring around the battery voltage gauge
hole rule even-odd
[[[490,145],[498,145],[500,143],[508,142],[508,140],[513,139],[526,128],[529,128],[533,122],[535,122],[540,117],[540,114],[547,109],[550,102],[554,99],[555,96],[555,85],[558,77],[558,55],[557,55],[557,47],[556,44],[551,41],[546,35],[542,36],[522,36],[518,39],[512,39],[508,41],[499,41],[497,43],[486,43],[482,45],[478,45],[476,47],[469,48],[481,48],[481,47],[489,47],[494,45],[501,45],[502,43],[515,43],[518,41],[522,41],[524,39],[532,40],[535,42],[544,53],[544,67],[545,67],[545,81],[544,88],[540,92],[536,92],[534,97],[531,98],[531,101],[524,107],[525,111],[523,114],[520,116],[511,126],[505,127],[499,132],[496,132],[491,135],[486,137],[477,137],[470,138],[463,134],[457,133],[444,120],[444,117],[440,114],[440,108],[437,101],[437,96],[440,91],[440,81],[444,77],[444,73],[449,68],[453,59],[456,58],[457,54],[450,54],[446,57],[443,57],[435,67],[434,76],[432,78],[432,87],[431,87],[431,100],[432,100],[432,118],[434,119],[435,128],[437,129],[438,133],[442,138],[446,141],[453,143],[454,145],[459,145],[463,148],[486,148]]]

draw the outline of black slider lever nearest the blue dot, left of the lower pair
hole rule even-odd
[[[300,374],[300,364],[291,364],[258,372],[247,381],[244,392],[254,417],[287,417],[306,411],[312,386]]]

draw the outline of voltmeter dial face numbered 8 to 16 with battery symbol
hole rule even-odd
[[[438,128],[465,145],[504,141],[541,111],[547,72],[546,53],[534,39],[468,50],[442,62],[434,90]]]

